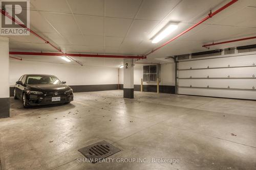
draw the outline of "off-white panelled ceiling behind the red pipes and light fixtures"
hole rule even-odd
[[[143,55],[230,2],[223,0],[30,0],[31,29],[67,53]],[[157,44],[151,38],[169,21],[179,28]],[[203,44],[256,34],[256,1],[242,0],[148,56],[155,58],[205,51]],[[11,51],[55,52],[34,35],[9,36]],[[241,41],[211,50],[256,43]],[[26,56],[26,60],[62,62]],[[74,58],[83,63],[118,66],[119,59]],[[101,65],[101,64],[100,64]]]

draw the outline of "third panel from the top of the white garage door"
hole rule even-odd
[[[254,86],[256,88],[256,79],[181,79],[179,80],[179,86],[185,87],[216,87],[216,88],[242,88],[242,89],[252,89]]]

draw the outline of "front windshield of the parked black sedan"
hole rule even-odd
[[[55,76],[35,75],[28,76],[27,84],[61,84]]]

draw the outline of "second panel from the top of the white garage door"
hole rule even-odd
[[[203,70],[180,70],[179,78],[231,78],[256,76],[256,67],[238,67],[238,68],[219,68],[219,69],[203,69]]]

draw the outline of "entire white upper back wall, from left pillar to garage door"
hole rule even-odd
[[[68,71],[67,71],[68,70]],[[23,74],[49,74],[57,76],[68,85],[100,85],[118,84],[118,69],[95,66],[79,66],[69,64],[55,64],[35,61],[10,60],[10,86]],[[140,85],[143,77],[143,66],[134,66],[134,84]],[[119,68],[119,83],[123,84],[123,69]],[[156,85],[146,83],[144,85]],[[161,65],[160,85],[175,85],[175,64]]]

